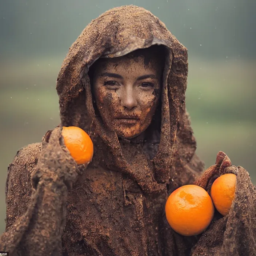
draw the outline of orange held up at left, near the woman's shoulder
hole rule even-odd
[[[93,143],[83,129],[75,126],[63,127],[61,134],[70,155],[77,164],[87,164],[92,160]]]

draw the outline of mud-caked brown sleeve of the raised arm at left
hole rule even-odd
[[[68,189],[78,173],[60,145],[49,143],[39,151],[37,144],[21,149],[8,168],[0,251],[12,256],[62,255]]]

